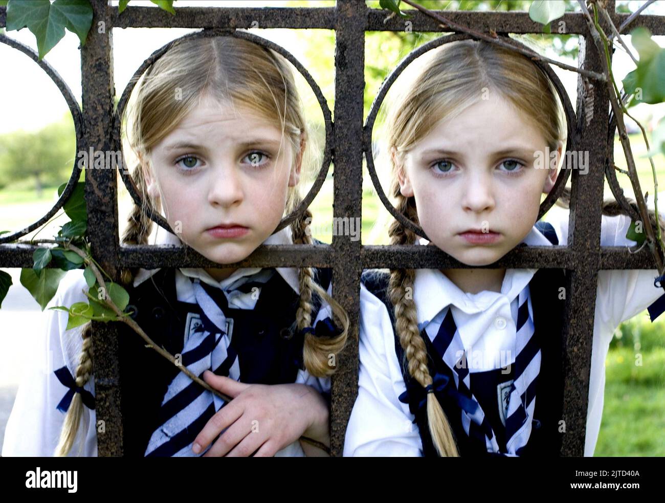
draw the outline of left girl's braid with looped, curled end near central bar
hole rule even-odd
[[[309,222],[312,214],[307,210],[300,218],[291,224],[294,244],[312,244]],[[334,337],[318,337],[313,333],[305,333],[303,345],[303,362],[305,369],[315,377],[327,377],[335,371],[336,365],[331,365],[331,357],[336,361],[336,355],[344,348],[348,335],[348,315],[344,308],[313,279],[312,267],[301,267],[299,271],[300,303],[296,311],[296,324],[298,330],[309,327],[312,323],[312,295],[319,295],[332,309],[332,319],[336,327],[342,328],[342,333]]]

